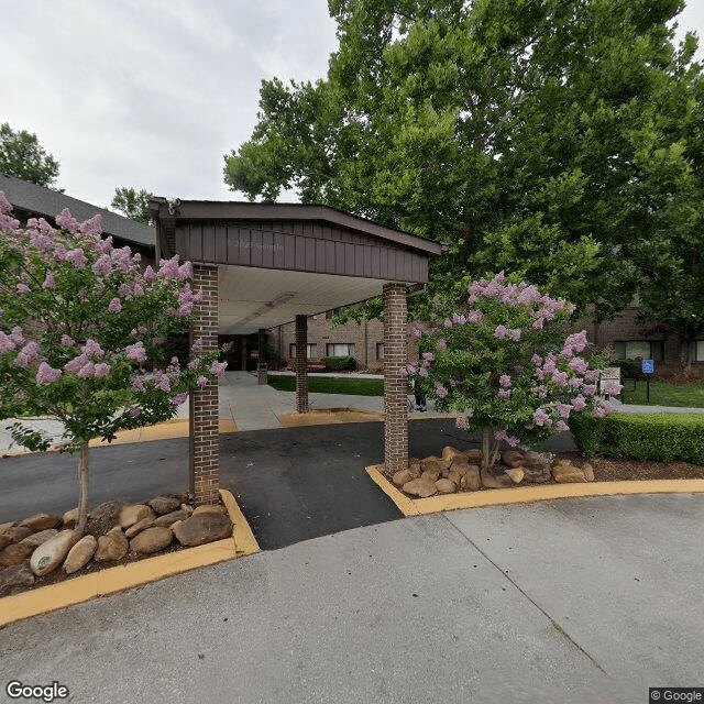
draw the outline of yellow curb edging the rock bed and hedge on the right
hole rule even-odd
[[[493,488],[464,494],[446,494],[428,498],[408,498],[399,492],[380,471],[381,465],[367,466],[366,471],[381,490],[398,506],[404,516],[439,514],[458,508],[529,504],[554,498],[580,496],[615,496],[628,494],[691,494],[704,492],[704,480],[645,480],[634,482],[587,482],[583,484],[542,484]]]

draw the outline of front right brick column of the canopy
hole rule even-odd
[[[406,285],[384,288],[384,462],[386,472],[408,469],[408,381]]]

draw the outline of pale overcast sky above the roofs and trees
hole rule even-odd
[[[100,207],[118,186],[243,199],[222,157],[250,138],[261,80],[324,77],[337,47],[327,0],[0,0],[0,122],[36,133],[57,186]],[[704,34],[704,0],[688,0],[679,23]]]

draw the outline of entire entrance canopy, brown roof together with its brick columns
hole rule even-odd
[[[150,202],[156,252],[194,264],[201,288],[194,337],[249,334],[296,321],[297,408],[308,410],[307,318],[384,295],[385,461],[408,462],[407,284],[428,280],[428,258],[443,246],[328,208],[297,204],[176,200]],[[191,490],[196,503],[218,496],[218,385],[191,394]]]

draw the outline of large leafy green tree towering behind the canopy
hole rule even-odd
[[[448,242],[431,294],[505,268],[597,318],[632,299],[701,184],[696,41],[667,26],[682,0],[329,7],[327,79],[263,81],[233,190],[295,188]]]

